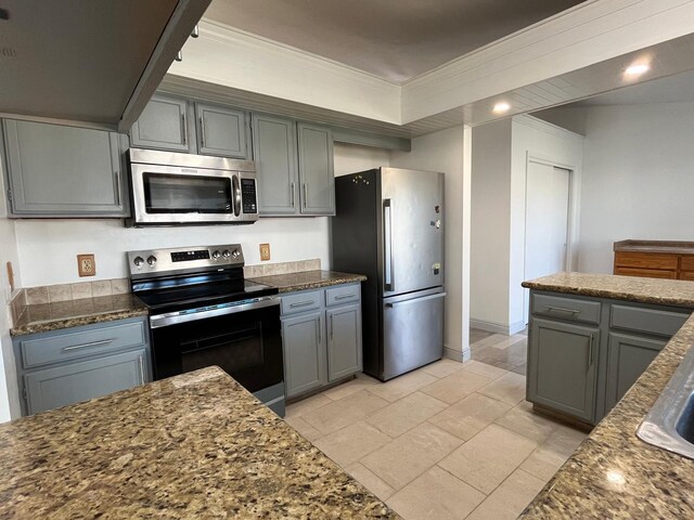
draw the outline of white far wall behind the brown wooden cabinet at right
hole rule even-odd
[[[578,269],[612,273],[627,238],[694,240],[694,103],[587,112]]]

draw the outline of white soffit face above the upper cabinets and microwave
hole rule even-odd
[[[400,87],[329,60],[203,20],[169,74],[400,123]]]

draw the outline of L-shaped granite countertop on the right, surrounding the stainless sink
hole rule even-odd
[[[694,308],[694,282],[558,273],[523,285]],[[646,444],[635,434],[693,343],[694,314],[520,518],[694,518],[694,460]]]

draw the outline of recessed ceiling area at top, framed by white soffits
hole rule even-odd
[[[213,0],[205,17],[404,82],[582,0]]]

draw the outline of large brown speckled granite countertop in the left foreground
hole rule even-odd
[[[397,519],[217,367],[0,425],[1,518]]]

